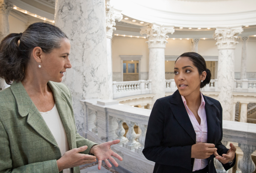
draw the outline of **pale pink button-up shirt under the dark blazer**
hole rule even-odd
[[[195,118],[195,115],[189,110],[187,107],[187,102],[186,99],[181,96],[183,103],[185,105],[185,108],[187,110],[187,114],[189,115],[189,119],[194,127],[195,133],[196,133],[196,141],[197,143],[207,143],[207,120],[206,120],[206,113],[205,113],[205,102],[204,102],[204,97],[203,94],[200,92],[201,96],[201,105],[197,111],[199,117],[201,118],[201,124],[199,125],[197,119]],[[207,166],[208,164],[208,159],[195,159],[194,161],[194,166],[193,166],[193,171],[197,171],[200,169],[203,169]]]

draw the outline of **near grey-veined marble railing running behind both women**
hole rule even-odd
[[[116,100],[91,99],[81,100],[81,103],[85,112],[84,137],[96,143],[119,139],[120,143],[111,148],[123,157],[122,162],[117,161],[121,167],[134,173],[153,171],[154,162],[148,161],[142,154],[151,110],[122,105]],[[129,127],[126,137],[123,136],[123,122]],[[137,141],[135,125],[141,130]],[[256,150],[255,129],[256,124],[223,120],[222,143],[238,143],[243,151],[243,157],[238,161],[238,168],[242,173],[251,173],[255,170],[255,164],[251,159],[251,154]],[[218,161],[215,161],[215,167],[217,172],[223,170]]]

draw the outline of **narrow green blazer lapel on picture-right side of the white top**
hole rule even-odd
[[[59,115],[61,117],[64,129],[66,131],[67,140],[69,142],[69,148],[71,150],[73,149],[73,146],[72,146],[72,135],[71,135],[70,123],[74,123],[74,122],[69,118],[68,105],[66,101],[67,99],[64,99],[67,96],[53,82],[49,81],[48,85],[52,89],[53,96],[55,99],[55,104],[58,109]]]

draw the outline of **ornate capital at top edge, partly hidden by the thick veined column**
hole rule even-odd
[[[123,15],[121,12],[115,12],[113,6],[110,5],[110,0],[106,0],[106,29],[107,37],[112,38],[113,31],[116,30],[116,20],[121,21]]]

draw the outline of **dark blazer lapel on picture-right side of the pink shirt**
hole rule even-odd
[[[207,143],[213,144],[213,138],[214,138],[214,132],[215,132],[215,126],[216,126],[216,108],[213,107],[213,102],[208,99],[207,97],[204,97],[205,101],[205,113],[206,113],[206,120],[207,120]]]

